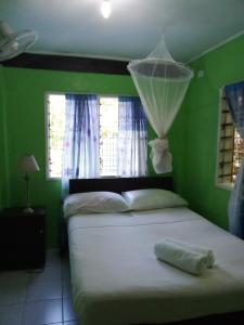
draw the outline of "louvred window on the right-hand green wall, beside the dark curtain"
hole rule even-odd
[[[220,93],[219,119],[217,183],[222,186],[231,186],[244,157],[244,141],[233,126],[223,89]]]

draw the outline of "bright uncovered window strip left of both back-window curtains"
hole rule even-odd
[[[65,127],[65,95],[48,95],[48,177],[61,178],[63,136]]]

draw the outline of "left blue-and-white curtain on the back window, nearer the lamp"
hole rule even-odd
[[[95,95],[66,94],[62,194],[69,179],[99,177],[99,103]]]

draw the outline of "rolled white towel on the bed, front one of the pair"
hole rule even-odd
[[[158,260],[195,275],[203,274],[207,269],[206,256],[167,239],[157,243],[154,251]]]

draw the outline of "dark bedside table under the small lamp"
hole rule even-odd
[[[46,209],[8,208],[0,213],[0,270],[42,269],[46,261]]]

